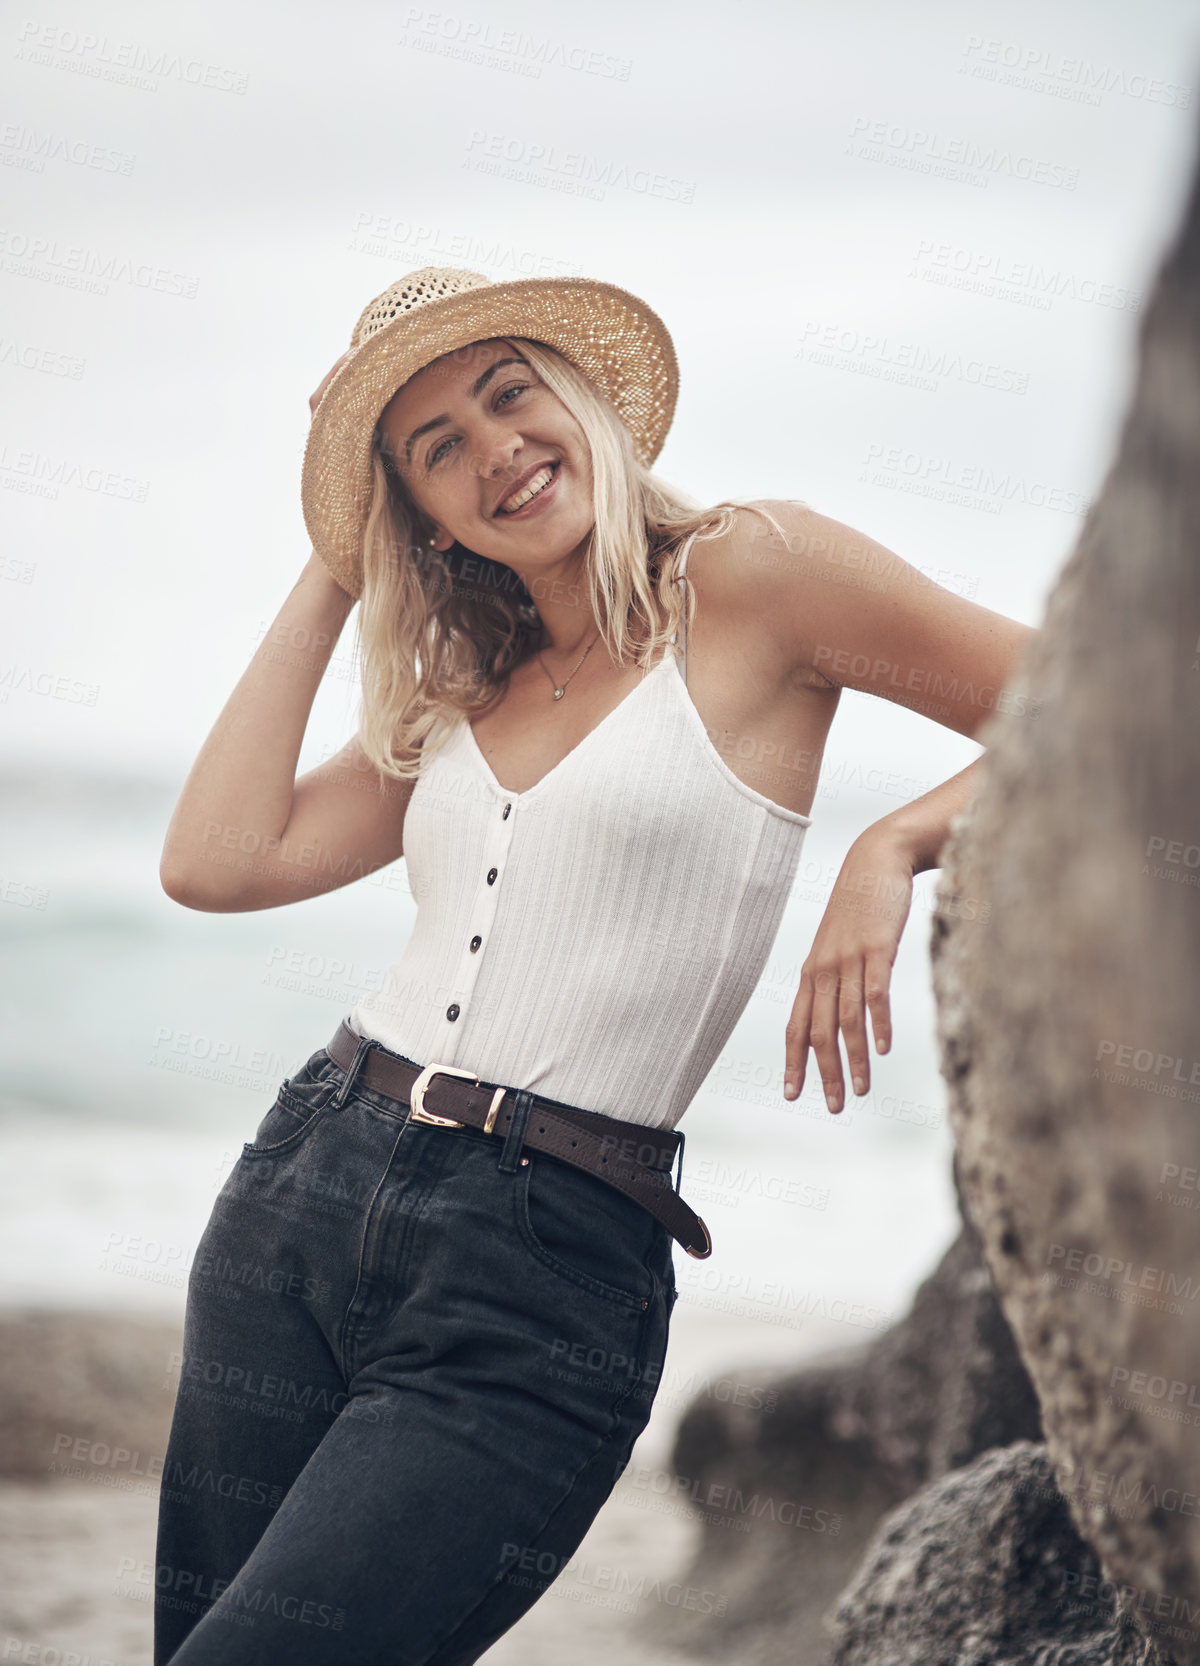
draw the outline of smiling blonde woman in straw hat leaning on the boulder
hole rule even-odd
[[[1008,681],[1025,628],[870,538],[655,478],[675,390],[623,290],[427,268],[313,395],[313,556],[162,881],[272,908],[405,855],[418,913],[198,1246],[157,1666],[467,1666],[552,1583],[650,1416],[672,1241],[712,1248],[677,1123],[770,953],[842,686],[975,735]],[[358,733],[297,780],[357,596]],[[838,1036],[868,1090],[865,1013],[887,1051],[912,878],[973,775],[855,840],[787,1098],[812,1048],[840,1110]]]

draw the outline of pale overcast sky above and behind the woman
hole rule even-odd
[[[1037,623],[1200,62],[1182,0],[63,0],[8,10],[0,77],[3,755],[182,778],[308,558],[308,395],[430,263],[633,290],[682,363],[667,478]],[[352,701],[332,676],[302,765]],[[977,748],[857,696],[860,753]]]

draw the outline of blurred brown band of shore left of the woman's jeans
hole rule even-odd
[[[112,1313],[0,1313],[0,1476],[157,1479],[183,1326]]]

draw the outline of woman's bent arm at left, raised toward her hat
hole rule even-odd
[[[352,608],[313,553],[183,783],[158,868],[173,901],[205,913],[278,908],[403,855],[415,783],[382,778],[357,738],[295,775]]]

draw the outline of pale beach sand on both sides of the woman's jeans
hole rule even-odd
[[[120,1333],[123,1319],[112,1323]],[[798,1334],[693,1309],[682,1296],[663,1381],[628,1469],[567,1568],[485,1656],[488,1666],[598,1666],[613,1649],[628,1666],[682,1661],[642,1636],[645,1619],[683,1604],[692,1616],[717,1613],[723,1593],[687,1584],[700,1528],[670,1474],[678,1418],[698,1396],[752,1393],[757,1373],[788,1369],[845,1339],[843,1326],[805,1324]],[[38,1446],[55,1411],[47,1416]],[[148,1666],[158,1483],[105,1464],[85,1464],[87,1479],[78,1466],[70,1476],[48,1468],[30,1464],[0,1483],[0,1661]]]

